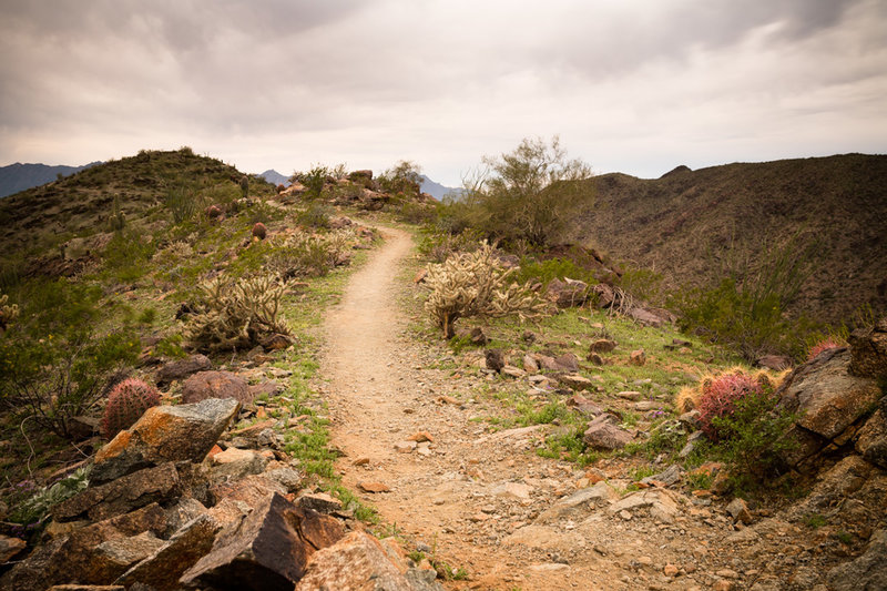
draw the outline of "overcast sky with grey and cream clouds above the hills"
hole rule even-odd
[[[884,0],[0,0],[0,165],[140,149],[458,185],[559,134],[595,172],[887,152]]]

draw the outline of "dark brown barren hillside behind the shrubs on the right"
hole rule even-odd
[[[728,269],[766,274],[774,254],[809,248],[796,310],[836,322],[866,304],[887,309],[887,156],[679,166],[656,180],[613,173],[594,184],[582,237],[672,287]]]

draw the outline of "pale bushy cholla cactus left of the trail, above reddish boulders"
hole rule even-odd
[[[197,313],[185,326],[185,339],[200,350],[251,348],[263,336],[289,334],[277,318],[285,285],[271,276],[226,282],[211,279],[200,286]]]

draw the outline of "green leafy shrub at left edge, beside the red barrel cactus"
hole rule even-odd
[[[22,320],[0,335],[0,405],[60,437],[102,398],[111,375],[135,361],[129,326],[99,334],[99,292],[65,281],[32,285]],[[27,320],[24,320],[27,318]]]

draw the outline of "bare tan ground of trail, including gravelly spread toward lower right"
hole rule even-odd
[[[320,388],[344,452],[344,483],[378,509],[408,551],[434,552],[468,572],[448,589],[710,589],[724,577],[724,589],[746,588],[735,554],[713,551],[733,521],[685,497],[671,522],[603,507],[539,519],[588,486],[585,472],[533,452],[542,427],[490,434],[471,420],[482,405],[472,388],[493,378],[478,368],[436,368],[446,349],[410,336],[402,302],[416,287],[397,277],[412,242],[404,231],[380,230],[385,244],[326,319]],[[431,442],[412,448],[408,440],[419,434]],[[600,468],[614,482],[625,477]],[[364,490],[374,487],[388,490]]]

